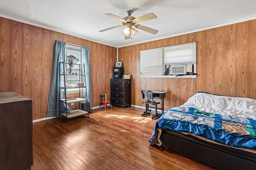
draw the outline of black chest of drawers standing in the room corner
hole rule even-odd
[[[118,107],[131,106],[131,79],[110,79],[111,104]]]

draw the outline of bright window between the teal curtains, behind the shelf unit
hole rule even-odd
[[[73,55],[74,57],[76,57],[77,59],[79,59],[78,62],[76,62],[76,64],[81,64],[81,47],[77,46],[77,45],[72,45],[72,44],[68,44],[66,46],[66,52],[67,52],[67,56],[68,55]],[[72,69],[72,72],[74,72],[74,74],[77,72],[79,73],[79,66],[75,65],[74,68]],[[68,75],[68,86],[76,86],[77,83],[80,82],[80,76],[69,76]],[[68,94],[71,93],[79,93],[79,88],[72,88],[72,89],[68,89]]]

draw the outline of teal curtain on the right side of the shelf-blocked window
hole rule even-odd
[[[92,110],[92,93],[91,93],[91,80],[90,80],[90,57],[89,57],[89,48],[88,47],[83,47],[81,46],[81,63],[84,63],[85,65],[85,72],[86,72],[86,89],[82,90],[82,96],[83,98],[86,98],[87,101],[90,102],[90,110]],[[86,91],[87,90],[87,96],[86,96]]]

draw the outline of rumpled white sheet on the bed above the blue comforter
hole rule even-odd
[[[250,98],[217,96],[199,92],[190,97],[181,107],[194,107],[210,113],[256,120],[256,100]]]

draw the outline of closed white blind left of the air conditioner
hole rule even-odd
[[[140,51],[140,75],[154,76],[163,74],[163,49]]]

